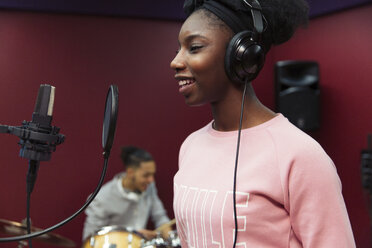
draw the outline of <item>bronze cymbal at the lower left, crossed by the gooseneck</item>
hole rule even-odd
[[[37,228],[37,227],[31,227],[31,233],[40,232],[40,231],[42,231],[42,229]],[[0,233],[12,235],[12,236],[25,235],[27,234],[27,227],[26,225],[18,223],[18,222],[0,219]],[[40,242],[51,244],[51,245],[63,246],[63,247],[75,247],[76,246],[75,242],[73,242],[72,240],[69,240],[67,238],[64,238],[54,233],[46,233],[38,237],[35,237],[32,240],[40,241]]]

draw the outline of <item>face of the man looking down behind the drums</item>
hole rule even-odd
[[[155,180],[156,165],[154,161],[141,162],[138,168],[132,168],[131,182],[134,191],[144,192]]]

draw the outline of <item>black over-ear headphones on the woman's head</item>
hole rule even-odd
[[[265,52],[260,45],[263,31],[263,15],[257,0],[243,0],[250,8],[253,19],[253,31],[242,31],[230,40],[225,55],[225,71],[230,80],[245,83],[255,79],[263,67]]]

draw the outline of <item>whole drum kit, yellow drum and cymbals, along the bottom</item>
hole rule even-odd
[[[174,220],[167,224],[172,225],[173,223]],[[39,231],[42,229],[31,228],[31,232]],[[0,233],[12,236],[24,235],[27,233],[27,227],[23,223],[0,219]],[[60,247],[76,247],[75,242],[55,233],[46,233],[32,240]],[[27,241],[18,242],[18,248],[26,246]],[[105,226],[85,240],[82,248],[181,248],[181,243],[177,231],[170,231],[168,239],[162,238],[159,234],[153,239],[146,240],[142,234],[135,230],[122,226]]]

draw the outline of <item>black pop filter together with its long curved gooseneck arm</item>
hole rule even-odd
[[[110,156],[110,150],[112,147],[112,144],[114,142],[114,136],[116,131],[116,120],[117,120],[117,114],[118,114],[118,100],[119,100],[119,92],[118,87],[116,85],[111,85],[109,88],[109,91],[106,96],[106,105],[105,105],[105,113],[104,113],[104,119],[103,119],[103,131],[102,131],[102,147],[103,147],[103,157],[104,157],[104,165],[101,173],[101,177],[98,183],[98,186],[94,190],[94,192],[89,196],[88,200],[85,202],[85,204],[76,211],[73,215],[66,218],[65,220],[59,222],[58,224],[51,226],[49,228],[44,229],[40,232],[34,232],[27,235],[20,235],[16,237],[6,237],[6,238],[0,238],[0,243],[3,242],[14,242],[14,241],[21,241],[25,239],[32,239],[35,237],[38,237],[40,235],[46,234],[48,232],[51,232],[67,222],[74,219],[76,216],[78,216],[88,205],[93,201],[93,199],[98,194],[99,190],[101,189],[101,186],[103,184],[103,180],[106,175],[107,170],[107,164],[108,164],[108,158]],[[4,126],[0,126],[0,129],[4,128]]]

